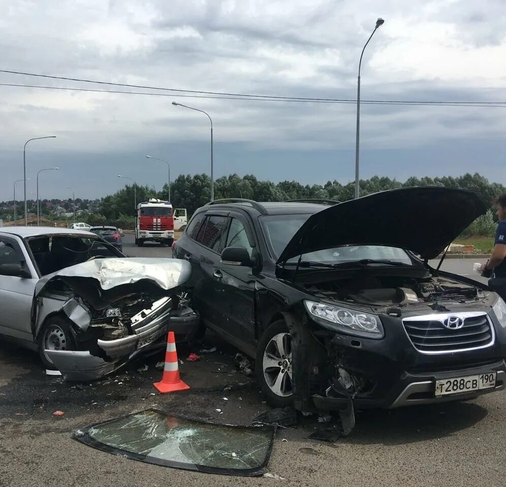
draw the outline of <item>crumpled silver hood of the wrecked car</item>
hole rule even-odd
[[[35,297],[42,292],[49,281],[57,277],[67,281],[75,277],[91,279],[102,290],[107,291],[139,281],[149,281],[162,289],[169,290],[186,283],[191,275],[191,264],[179,259],[140,257],[94,259],[45,275],[35,287]]]

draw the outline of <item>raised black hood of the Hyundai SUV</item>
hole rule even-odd
[[[374,193],[311,215],[277,263],[344,245],[399,247],[433,259],[486,209],[477,194],[461,189],[415,187]]]

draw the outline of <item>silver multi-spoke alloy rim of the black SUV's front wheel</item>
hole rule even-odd
[[[264,351],[263,370],[265,382],[276,396],[287,397],[293,394],[290,333],[278,333],[269,340]]]

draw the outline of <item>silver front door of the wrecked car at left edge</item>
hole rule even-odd
[[[21,264],[30,277],[5,275],[2,264]],[[0,235],[0,333],[33,342],[30,315],[39,276],[26,249],[14,237]]]

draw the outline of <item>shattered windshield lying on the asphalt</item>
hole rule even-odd
[[[79,430],[95,448],[166,467],[261,475],[272,450],[272,426],[203,423],[148,409]]]

